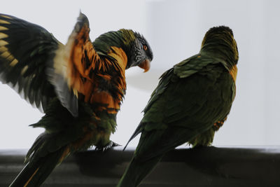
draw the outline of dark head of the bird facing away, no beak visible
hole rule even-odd
[[[230,27],[220,26],[209,29],[202,41],[201,50],[204,49],[223,53],[230,57],[234,64],[237,64],[239,58],[237,43]]]

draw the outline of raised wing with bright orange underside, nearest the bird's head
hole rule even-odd
[[[102,60],[90,41],[87,17],[80,13],[78,21],[66,45],[59,44],[55,57],[48,62],[48,80],[62,105],[73,116],[78,116],[78,97],[91,102],[92,92],[97,87],[94,74],[103,67]]]

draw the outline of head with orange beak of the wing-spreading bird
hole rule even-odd
[[[127,54],[127,67],[141,67],[144,72],[150,69],[153,60],[153,52],[148,41],[143,35],[130,29],[120,29],[124,40],[124,50]]]

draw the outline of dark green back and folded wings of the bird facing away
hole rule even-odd
[[[195,63],[200,63],[198,55],[162,76],[132,136],[141,133],[136,156],[146,160],[165,153],[204,132],[230,111],[233,100],[221,97],[235,94],[228,70],[215,60],[196,67]]]

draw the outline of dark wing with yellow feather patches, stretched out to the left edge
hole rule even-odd
[[[55,97],[45,76],[45,62],[58,45],[59,41],[43,27],[0,14],[0,81],[45,109],[48,100]]]

